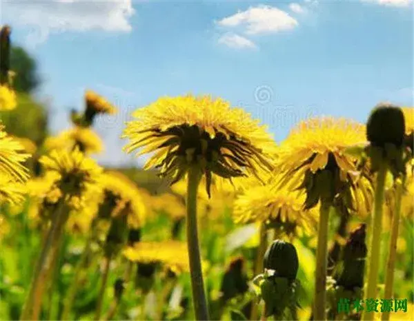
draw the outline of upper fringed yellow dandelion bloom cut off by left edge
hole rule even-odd
[[[24,147],[3,131],[0,125],[0,175],[7,175],[11,180],[24,183],[28,177],[28,169],[23,163],[30,157],[23,153]]]

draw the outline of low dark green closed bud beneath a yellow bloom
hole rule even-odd
[[[275,276],[295,280],[297,269],[299,269],[299,259],[293,245],[282,240],[274,240],[268,247],[263,258],[265,269],[275,271]]]

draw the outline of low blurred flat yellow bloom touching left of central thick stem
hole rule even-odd
[[[137,242],[124,249],[124,256],[132,262],[161,263],[175,272],[188,272],[188,250],[185,242],[168,240],[164,242]]]

